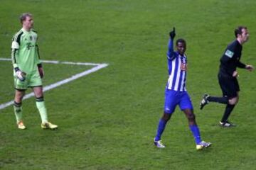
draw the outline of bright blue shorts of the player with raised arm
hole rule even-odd
[[[174,113],[177,105],[179,108],[181,108],[181,111],[185,109],[193,110],[191,98],[187,91],[174,91],[166,89],[164,112],[169,114]]]

